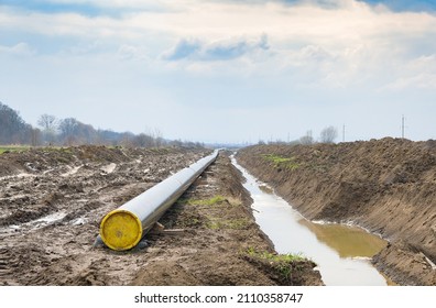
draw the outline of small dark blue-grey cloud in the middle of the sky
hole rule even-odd
[[[199,40],[181,40],[172,50],[163,53],[166,61],[230,61],[258,51],[268,51],[268,37],[259,40],[225,40],[201,43]]]

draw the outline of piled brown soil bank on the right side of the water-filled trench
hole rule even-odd
[[[257,145],[238,162],[305,217],[353,222],[390,241],[375,266],[401,285],[436,285],[436,142]]]

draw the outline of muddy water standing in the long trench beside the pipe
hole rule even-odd
[[[253,198],[255,220],[277,253],[302,253],[312,258],[326,285],[386,285],[370,263],[370,257],[386,245],[385,241],[359,228],[306,220],[239,166],[235,157],[232,163],[243,173],[244,187]]]

